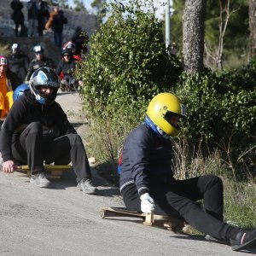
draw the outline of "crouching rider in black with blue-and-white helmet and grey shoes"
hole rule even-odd
[[[62,165],[71,160],[79,189],[96,194],[82,139],[55,102],[59,86],[56,73],[49,67],[32,74],[30,90],[15,101],[1,129],[3,172],[14,172],[15,162],[27,164],[32,174],[30,183],[48,188],[44,160]]]

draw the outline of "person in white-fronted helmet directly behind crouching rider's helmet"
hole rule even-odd
[[[54,61],[44,56],[44,48],[41,45],[35,45],[33,52],[36,55],[36,58],[33,59],[29,64],[28,72],[26,74],[26,81],[29,81],[32,73],[34,73],[39,67],[55,67]]]

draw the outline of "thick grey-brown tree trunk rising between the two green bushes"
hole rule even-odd
[[[201,73],[204,55],[206,0],[185,0],[183,10],[183,61],[187,73]]]

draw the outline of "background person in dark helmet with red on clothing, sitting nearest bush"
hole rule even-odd
[[[76,84],[76,80],[73,77],[76,62],[69,49],[62,50],[62,59],[56,69],[57,75],[61,77],[61,91],[73,89]]]

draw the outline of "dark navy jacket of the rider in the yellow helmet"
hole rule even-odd
[[[172,143],[158,137],[147,125],[139,125],[128,135],[123,147],[120,190],[135,183],[139,195],[150,187],[171,185]]]

